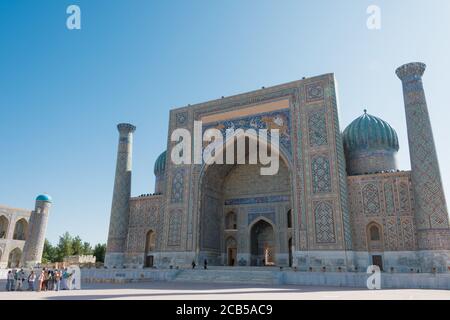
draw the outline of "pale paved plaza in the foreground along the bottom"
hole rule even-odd
[[[421,289],[140,282],[86,284],[82,290],[73,291],[5,292],[1,285],[2,300],[450,300],[450,291]]]

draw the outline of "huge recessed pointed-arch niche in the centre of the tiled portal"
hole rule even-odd
[[[249,164],[248,159],[249,153],[243,164],[202,168],[197,259],[211,266],[287,266],[288,225],[292,228],[292,221],[286,221],[292,209],[289,164],[280,157],[277,173],[263,175],[266,166]]]

